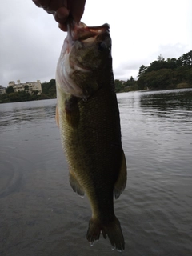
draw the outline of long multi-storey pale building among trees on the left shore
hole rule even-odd
[[[42,84],[40,80],[37,80],[37,82],[25,82],[21,83],[20,80],[17,81],[18,83],[15,83],[14,81],[9,82],[9,86],[13,86],[14,91],[26,91],[30,94],[33,94],[33,91],[38,90],[38,95],[42,94]]]

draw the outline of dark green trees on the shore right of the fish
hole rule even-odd
[[[192,50],[179,58],[160,54],[150,66],[140,66],[138,80],[114,80],[117,92],[130,90],[166,90],[192,87]]]

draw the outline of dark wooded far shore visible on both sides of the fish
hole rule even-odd
[[[150,66],[140,66],[138,79],[132,76],[127,81],[114,80],[115,90],[129,92],[133,90],[170,90],[192,88],[192,50],[179,58],[165,58],[160,54]],[[55,80],[42,83],[42,94],[38,91],[29,94],[26,90],[14,92],[14,88],[6,88],[6,94],[0,94],[0,103],[26,102],[33,100],[56,98]]]

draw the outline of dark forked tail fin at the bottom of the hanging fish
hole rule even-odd
[[[118,218],[114,216],[114,219],[108,223],[99,222],[99,220],[90,219],[89,228],[87,230],[86,238],[93,244],[94,240],[98,240],[100,233],[103,237],[110,239],[110,243],[118,251],[125,249],[125,242],[122,234],[122,229]],[[114,250],[114,249],[113,249]]]

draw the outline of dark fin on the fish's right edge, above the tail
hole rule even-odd
[[[126,187],[126,158],[122,150],[122,165],[118,174],[118,179],[114,184],[114,197],[118,199]]]

